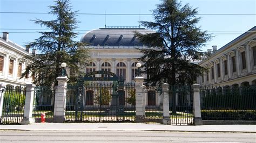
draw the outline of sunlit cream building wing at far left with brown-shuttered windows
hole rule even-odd
[[[26,68],[24,56],[29,55],[29,49],[15,44],[9,40],[9,33],[3,32],[0,37],[0,83],[6,87],[19,87],[31,83],[29,75],[20,78]]]

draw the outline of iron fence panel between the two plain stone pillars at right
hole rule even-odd
[[[186,85],[170,85],[169,106],[172,125],[193,124],[193,90]]]

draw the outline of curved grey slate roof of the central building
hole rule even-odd
[[[145,28],[99,28],[86,33],[81,41],[93,46],[143,46],[142,42],[134,37],[134,31],[143,34],[153,32]]]

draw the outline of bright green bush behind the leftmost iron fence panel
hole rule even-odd
[[[6,90],[4,92],[3,108],[5,112],[20,110],[25,105],[25,95],[18,90]]]

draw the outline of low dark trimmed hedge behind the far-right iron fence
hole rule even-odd
[[[256,120],[255,110],[201,110],[203,120]]]

